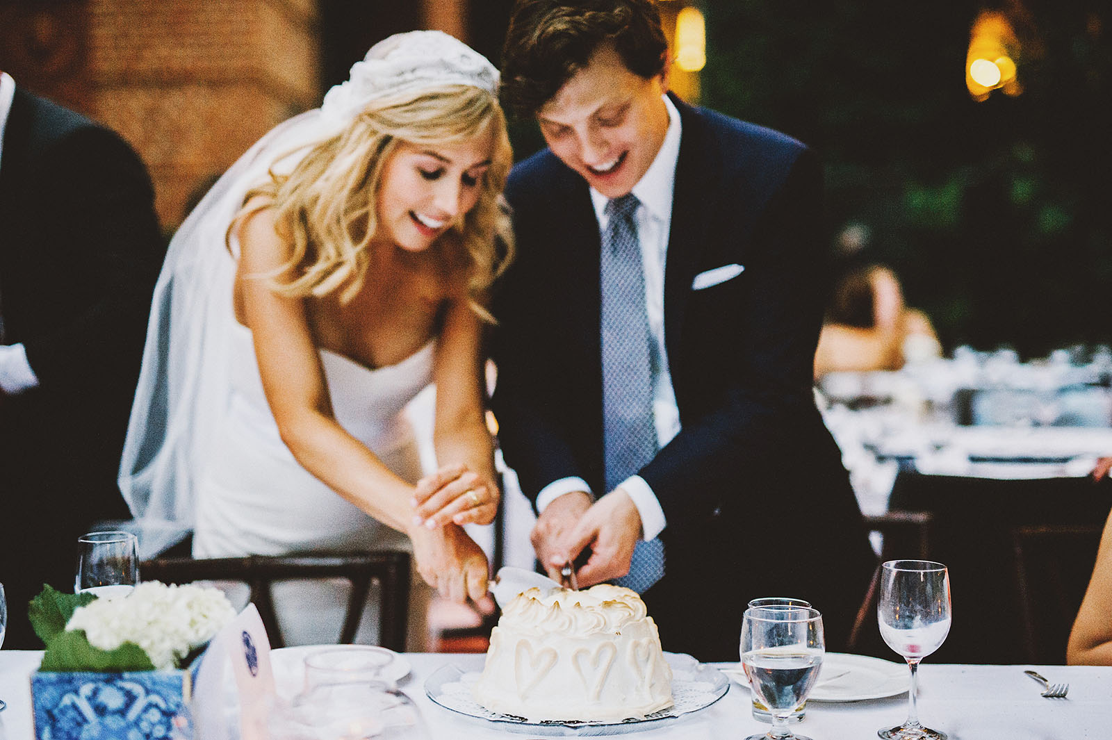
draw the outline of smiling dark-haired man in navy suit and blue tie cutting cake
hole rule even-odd
[[[506,196],[493,399],[549,574],[643,591],[663,646],[736,660],[748,599],[844,646],[874,559],[815,409],[820,164],[667,93],[652,0],[523,0],[503,101],[548,148]]]

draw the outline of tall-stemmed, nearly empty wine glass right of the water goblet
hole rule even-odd
[[[890,560],[881,568],[876,604],[881,637],[911,668],[907,721],[882,728],[886,740],[946,740],[945,732],[925,728],[915,709],[919,661],[939,649],[950,632],[950,572],[941,562]]]

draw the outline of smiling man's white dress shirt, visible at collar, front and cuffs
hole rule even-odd
[[[656,152],[645,174],[633,187],[633,194],[639,201],[634,213],[637,223],[637,239],[641,242],[642,268],[645,273],[645,311],[648,313],[648,333],[653,339],[651,361],[653,363],[653,420],[659,447],[672,441],[679,432],[679,408],[672,388],[668,372],[668,354],[664,348],[664,268],[667,261],[668,234],[672,228],[672,198],[676,183],[676,162],[679,160],[681,123],[679,111],[664,98],[668,110],[668,130],[664,143]],[[590,201],[595,207],[599,233],[606,232],[606,203],[609,199],[590,189]],[[656,494],[641,476],[632,476],[619,486],[637,507],[641,514],[643,537],[655,538],[667,524],[664,510]],[[556,498],[572,491],[587,491],[590,487],[582,478],[562,478],[553,481],[537,496],[537,510]]]

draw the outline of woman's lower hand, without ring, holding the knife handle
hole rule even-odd
[[[460,603],[483,598],[489,574],[486,554],[461,527],[414,527],[409,537],[417,572],[440,596]]]

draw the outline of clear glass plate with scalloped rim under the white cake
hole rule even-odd
[[[495,722],[497,729],[524,732],[536,737],[583,737],[644,732],[688,712],[706,709],[729,690],[729,681],[717,669],[698,662],[684,653],[665,652],[664,659],[672,667],[672,693],[676,703],[668,709],[645,717],[618,722],[529,722],[520,717],[499,714],[481,707],[471,696],[477,672],[464,673],[458,667],[438,668],[425,681],[425,693],[437,704],[483,722]]]

